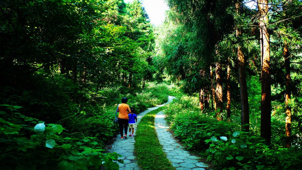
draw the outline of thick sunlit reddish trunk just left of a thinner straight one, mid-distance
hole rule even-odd
[[[216,63],[216,105],[215,105],[215,111],[220,109],[216,112],[216,119],[218,121],[222,120],[221,112],[222,112],[222,67],[220,63]]]

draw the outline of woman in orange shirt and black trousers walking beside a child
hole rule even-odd
[[[128,114],[131,113],[129,105],[126,103],[128,102],[128,99],[124,97],[122,99],[122,103],[119,104],[117,112],[119,112],[119,127],[120,127],[120,139],[127,139],[127,131],[128,131],[128,121],[129,117]],[[125,133],[123,137],[123,129],[125,128]]]

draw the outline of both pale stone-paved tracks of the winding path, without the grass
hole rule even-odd
[[[149,108],[148,110],[139,113],[137,115],[137,124],[148,112],[171,103],[173,99],[175,99],[175,97],[169,96],[167,103]],[[204,163],[199,162],[199,157],[190,155],[188,151],[184,150],[182,145],[177,143],[168,131],[169,126],[166,124],[163,111],[156,114],[154,124],[159,142],[163,146],[163,151],[166,153],[167,158],[171,161],[172,165],[176,167],[176,170],[204,170],[204,167],[208,167]],[[137,129],[135,128],[134,136],[136,135],[136,130]],[[116,141],[112,144],[111,149],[108,150],[109,152],[116,152],[123,156],[119,159],[123,159],[124,163],[117,162],[120,166],[120,170],[140,170],[135,156],[133,155],[134,138],[135,137],[128,137],[128,139],[120,139],[118,135]]]

